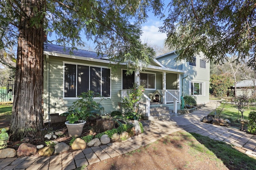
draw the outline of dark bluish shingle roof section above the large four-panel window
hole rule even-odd
[[[64,50],[65,48],[65,50]],[[96,52],[80,50],[80,49],[71,49],[69,47],[64,47],[60,45],[54,44],[44,44],[44,51],[52,52],[52,53],[60,53],[66,55],[74,55],[78,57],[86,57],[86,58],[93,58],[93,59],[101,59],[102,57],[106,57],[107,55],[98,55]]]

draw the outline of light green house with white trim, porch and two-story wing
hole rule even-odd
[[[80,49],[70,53],[67,47],[64,50],[59,45],[45,44],[44,120],[66,112],[77,96],[88,90],[104,96],[101,104],[107,113],[120,111],[122,98],[133,82],[144,84],[141,107],[147,116],[151,107],[167,106],[176,113],[184,95],[194,96],[198,104],[208,102],[210,64],[201,55],[194,57],[194,62],[175,61],[175,57],[175,51],[166,53],[146,69],[126,75],[126,63],[112,69],[106,56]]]

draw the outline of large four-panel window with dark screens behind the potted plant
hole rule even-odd
[[[77,97],[88,90],[110,97],[110,69],[65,63],[64,97]]]

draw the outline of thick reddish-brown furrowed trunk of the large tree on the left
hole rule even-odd
[[[42,129],[43,31],[45,0],[21,0],[10,139]]]

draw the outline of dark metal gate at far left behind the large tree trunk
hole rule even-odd
[[[7,80],[6,88],[0,88],[0,102],[13,102],[14,81]]]

